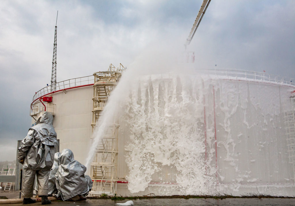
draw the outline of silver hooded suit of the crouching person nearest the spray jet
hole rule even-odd
[[[59,156],[58,172],[55,174],[55,184],[58,194],[63,200],[68,200],[76,195],[88,195],[89,186],[84,173],[86,167],[74,160],[73,152],[64,149]]]

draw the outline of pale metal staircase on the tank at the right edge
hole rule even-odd
[[[289,163],[293,166],[293,181],[295,182],[295,96],[290,98],[291,110],[285,112],[284,121],[289,153]]]

